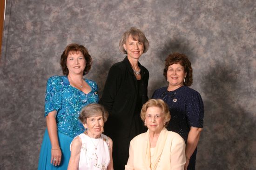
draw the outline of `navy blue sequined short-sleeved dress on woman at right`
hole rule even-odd
[[[168,104],[171,120],[168,130],[179,133],[187,143],[190,127],[203,127],[203,102],[201,95],[187,86],[174,91],[168,87],[155,90],[152,98],[162,99]],[[195,169],[196,149],[190,157],[188,170]]]

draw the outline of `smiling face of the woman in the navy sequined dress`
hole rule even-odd
[[[177,63],[172,64],[167,70],[167,81],[169,82],[169,87],[179,88],[183,86],[183,81],[187,73],[185,73],[184,67]]]

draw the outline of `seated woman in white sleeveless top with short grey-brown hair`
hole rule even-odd
[[[67,170],[113,170],[112,140],[102,134],[108,112],[100,104],[89,104],[81,110],[79,120],[86,128],[70,145]]]

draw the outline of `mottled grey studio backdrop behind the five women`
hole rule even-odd
[[[0,170],[35,170],[46,128],[47,78],[61,75],[69,43],[93,57],[86,76],[101,94],[110,66],[125,56],[121,34],[135,26],[150,43],[148,96],[167,86],[169,53],[186,54],[202,95],[197,170],[256,169],[255,0],[7,0],[0,58]]]

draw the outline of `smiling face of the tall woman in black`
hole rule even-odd
[[[143,53],[144,45],[143,43],[136,41],[129,35],[125,44],[123,44],[124,49],[127,51],[128,59],[139,59]]]

